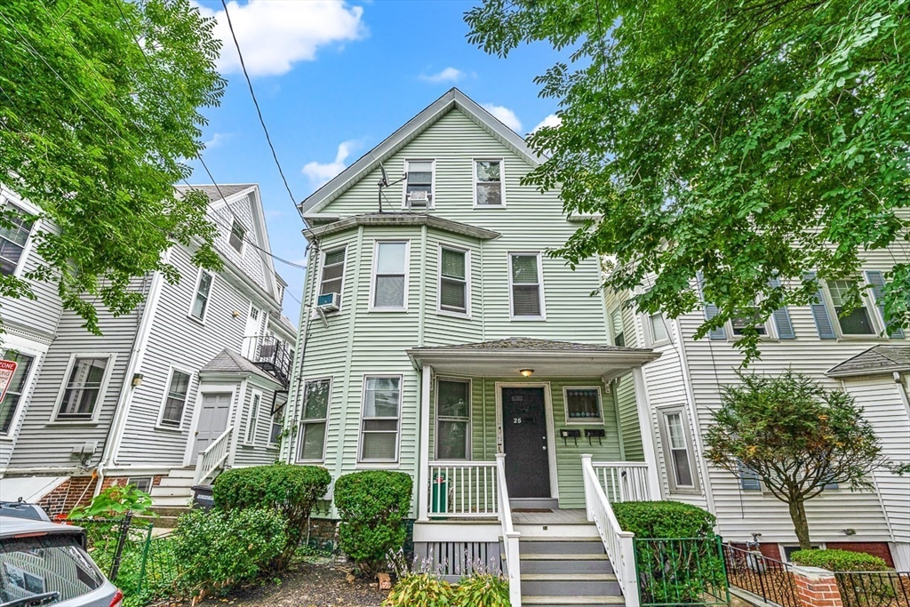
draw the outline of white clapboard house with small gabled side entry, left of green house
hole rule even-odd
[[[220,272],[171,248],[179,282],[136,279],[144,302],[119,317],[99,310],[101,337],[62,309],[53,285],[35,283],[35,301],[0,302],[4,358],[19,364],[0,403],[0,499],[60,511],[128,480],[158,505],[186,505],[190,486],[217,470],[275,460],[296,342],[281,316],[287,283],[268,254],[258,186],[221,186],[225,199],[197,188],[211,200]],[[13,192],[3,197],[37,212]],[[0,234],[3,271],[37,267],[32,235],[47,228],[23,222]]]

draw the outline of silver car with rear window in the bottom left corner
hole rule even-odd
[[[121,607],[81,527],[0,515],[0,607]]]

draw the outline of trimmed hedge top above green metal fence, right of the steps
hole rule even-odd
[[[611,504],[622,531],[636,538],[710,538],[714,515],[682,501],[624,501]]]

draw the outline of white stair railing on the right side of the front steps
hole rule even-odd
[[[626,607],[639,607],[641,600],[638,594],[638,575],[635,572],[635,547],[631,531],[622,531],[616,515],[603,491],[597,472],[591,464],[590,455],[581,456],[581,476],[584,479],[584,502],[588,511],[588,521],[597,525],[603,548],[607,551],[620,584]]]

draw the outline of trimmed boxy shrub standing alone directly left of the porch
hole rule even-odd
[[[404,545],[413,485],[409,474],[392,470],[354,472],[335,481],[339,547],[361,573],[372,577]]]

